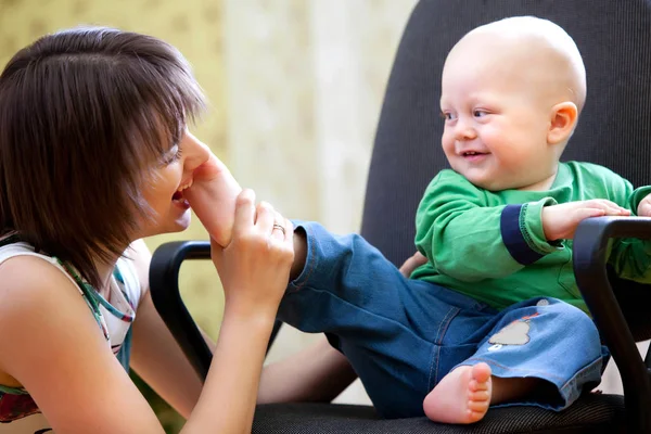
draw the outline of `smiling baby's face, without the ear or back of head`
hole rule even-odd
[[[532,69],[522,56],[481,43],[456,47],[446,61],[443,150],[452,169],[480,188],[540,189],[556,170],[547,142],[553,104]]]

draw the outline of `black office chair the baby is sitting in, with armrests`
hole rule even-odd
[[[361,234],[399,265],[413,253],[414,212],[430,179],[446,166],[438,117],[441,72],[468,30],[507,16],[536,15],[575,39],[588,74],[588,100],[564,159],[598,163],[635,186],[651,181],[651,0],[421,0],[405,29],[382,107]],[[363,17],[360,17],[363,18]],[[651,288],[610,277],[605,243],[651,238],[640,218],[595,218],[574,240],[574,267],[595,322],[612,350],[624,396],[585,394],[556,413],[535,407],[492,409],[476,424],[426,418],[381,420],[372,407],[332,404],[258,406],[255,433],[651,433],[651,356],[635,341],[651,337]],[[184,259],[207,258],[207,242],[161,246],[150,271],[156,308],[205,375],[210,354],[178,292]],[[612,289],[611,289],[612,285]]]

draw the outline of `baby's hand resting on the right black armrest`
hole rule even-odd
[[[588,217],[628,215],[628,209],[604,199],[550,205],[542,208],[542,231],[549,241],[570,240],[578,224]]]

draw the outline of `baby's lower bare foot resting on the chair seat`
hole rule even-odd
[[[441,380],[423,401],[427,418],[444,423],[474,423],[486,414],[493,395],[490,367],[461,366]]]

